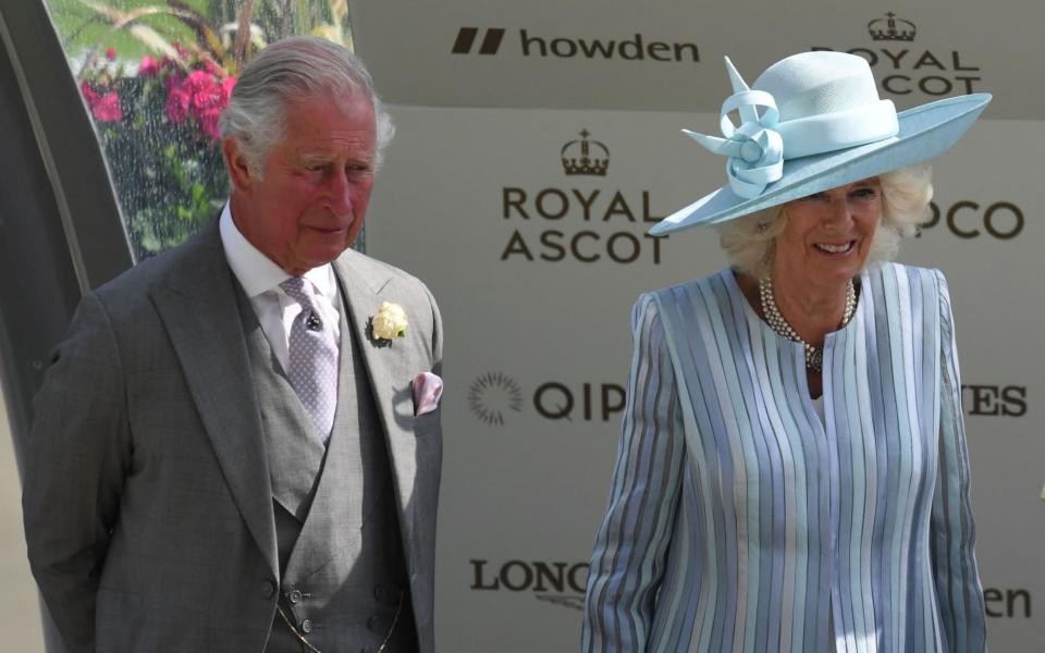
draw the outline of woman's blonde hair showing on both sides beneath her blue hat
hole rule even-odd
[[[929,219],[933,199],[932,168],[912,165],[878,176],[882,220],[871,239],[864,267],[896,257],[900,238],[911,237]],[[776,237],[787,225],[786,205],[758,211],[718,225],[722,248],[729,264],[755,279],[769,276]]]

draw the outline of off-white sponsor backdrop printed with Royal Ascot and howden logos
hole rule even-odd
[[[641,291],[710,274],[725,262],[712,230],[659,243],[644,232],[656,218],[723,183],[723,162],[678,130],[715,128],[714,111],[729,93],[721,63],[726,52],[702,45],[700,62],[686,63],[685,75],[665,67],[660,79],[656,66],[683,64],[620,60],[589,62],[586,69],[577,65],[554,74],[593,94],[578,107],[579,94],[550,93],[562,81],[543,84],[546,71],[531,70],[546,66],[546,60],[527,67],[517,53],[517,61],[499,69],[501,54],[453,54],[455,44],[463,49],[458,41],[467,41],[462,26],[477,27],[472,51],[482,46],[485,27],[469,20],[475,17],[469,12],[489,12],[455,4],[462,7],[443,7],[439,16],[425,14],[430,10],[421,5],[388,15],[364,2],[354,15],[357,48],[379,89],[391,86],[385,96],[398,127],[369,213],[368,252],[422,278],[446,328],[437,637],[442,651],[573,651],[579,645],[586,564],[617,444],[631,303]],[[549,34],[554,25],[557,34],[576,38],[637,30],[647,44],[717,38],[713,29],[666,16],[634,27],[582,21],[576,8],[558,22],[537,7],[526,11],[532,15],[513,20],[529,20]],[[693,14],[691,8],[675,11],[688,21]],[[855,26],[848,48],[870,50],[881,45],[866,25],[885,11],[835,10],[829,25]],[[460,15],[448,15],[454,12]],[[393,19],[399,20],[397,29]],[[995,651],[1038,650],[1045,626],[1040,614],[1045,565],[1038,555],[1045,541],[1040,497],[1045,438],[1037,428],[1043,356],[1035,337],[1045,323],[1043,189],[1034,158],[1045,147],[1041,98],[1015,86],[1013,94],[1028,95],[1013,98],[989,84],[995,76],[1008,79],[1021,63],[1005,64],[995,50],[974,46],[979,38],[958,39],[968,26],[956,24],[955,16],[929,17],[922,9],[909,20],[919,27],[915,40],[886,47],[894,56],[917,50],[923,63],[894,74],[924,78],[918,77],[931,67],[924,52],[952,64],[958,51],[961,67],[976,61],[982,69],[983,85],[973,90],[997,95],[986,120],[936,162],[939,218],[906,244],[900,260],[942,268],[950,281],[989,644]],[[517,35],[509,19],[500,21],[505,25],[500,47],[507,48]],[[981,23],[980,29],[1000,34],[1011,27],[1018,34],[1019,22],[1006,21]],[[752,16],[746,25],[758,33],[773,23]],[[779,56],[823,44],[815,25],[806,26],[806,36],[778,37],[789,39],[789,50],[777,52],[774,46],[737,56],[741,72],[753,79]],[[423,38],[410,40],[411,29]],[[951,45],[937,47],[933,34]],[[834,40],[843,49],[840,39]],[[983,63],[988,56],[989,67]],[[466,60],[465,70],[455,67]],[[468,69],[472,64],[481,70]],[[880,77],[882,72],[876,70]],[[605,86],[614,75],[620,86],[686,76],[706,82],[701,91],[691,85],[686,94],[699,107],[665,112],[651,110],[655,96],[636,99],[618,93],[620,86]],[[964,83],[954,78],[971,73],[946,75],[960,90]],[[423,89],[402,82],[420,77]],[[463,90],[468,85],[471,90]],[[506,106],[495,107],[497,93],[508,87]],[[429,100],[425,89],[431,89]],[[932,99],[917,95],[894,99],[901,108]],[[455,98],[480,106],[438,106]],[[683,101],[678,96],[667,104],[680,109],[672,103]],[[565,173],[562,149],[582,139],[582,131],[594,156],[608,151],[605,175]]]

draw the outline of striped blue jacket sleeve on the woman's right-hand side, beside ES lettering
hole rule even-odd
[[[961,412],[958,352],[947,282],[938,271],[936,276],[941,297],[939,470],[930,546],[947,651],[979,652],[986,646],[986,627],[973,551],[975,527],[969,501],[969,452]]]

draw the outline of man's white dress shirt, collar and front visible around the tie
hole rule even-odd
[[[221,211],[218,226],[229,267],[250,299],[250,306],[258,316],[265,336],[272,345],[272,352],[286,370],[291,325],[294,318],[302,312],[302,306],[280,287],[291,275],[244,237],[232,221],[232,210],[228,202]],[[318,305],[316,309],[323,323],[333,328],[334,342],[340,346],[341,312],[337,310],[337,280],[333,267],[327,263],[312,268],[303,276],[312,284]]]

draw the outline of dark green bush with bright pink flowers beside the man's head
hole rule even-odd
[[[234,79],[197,56],[151,63],[90,69],[82,85],[138,259],[184,242],[229,195],[216,120]]]

